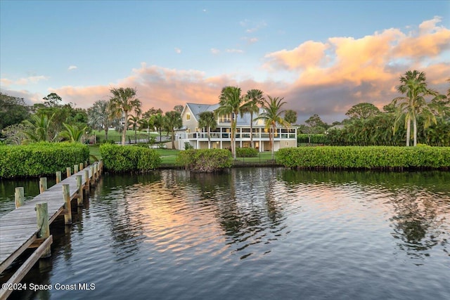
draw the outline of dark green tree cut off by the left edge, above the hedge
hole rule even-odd
[[[18,124],[30,116],[23,98],[0,93],[0,132],[7,126]]]

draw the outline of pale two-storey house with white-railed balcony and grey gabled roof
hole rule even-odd
[[[183,126],[176,134],[176,148],[183,150],[185,143],[191,144],[194,149],[208,148],[207,128],[199,128],[198,119],[200,112],[217,110],[219,104],[207,105],[187,103],[181,112]],[[262,112],[262,110],[261,110]],[[253,115],[253,145],[262,151],[270,151],[269,132],[264,128],[264,120],[256,120]],[[237,116],[236,124],[236,148],[250,147],[250,113]],[[217,117],[217,128],[210,130],[211,148],[231,148],[231,115]],[[277,126],[274,137],[274,149],[297,147],[297,128]]]

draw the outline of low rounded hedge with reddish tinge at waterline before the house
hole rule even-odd
[[[179,152],[176,164],[190,171],[218,171],[231,167],[231,152],[226,149],[188,149]]]

